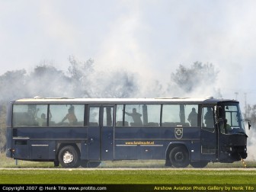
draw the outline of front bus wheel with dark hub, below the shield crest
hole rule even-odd
[[[174,147],[171,149],[170,162],[175,168],[186,168],[189,165],[189,158],[187,149],[182,146]]]

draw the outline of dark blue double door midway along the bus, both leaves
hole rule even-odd
[[[88,160],[114,158],[113,106],[89,106]]]

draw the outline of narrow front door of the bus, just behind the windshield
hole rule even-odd
[[[201,108],[200,160],[216,160],[218,137],[214,120],[214,106],[203,105]]]

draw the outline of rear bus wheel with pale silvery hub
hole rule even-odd
[[[60,149],[58,158],[63,168],[77,168],[80,165],[78,152],[73,146],[64,146]]]

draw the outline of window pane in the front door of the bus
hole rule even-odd
[[[214,132],[213,107],[203,107],[201,116],[202,129]]]

